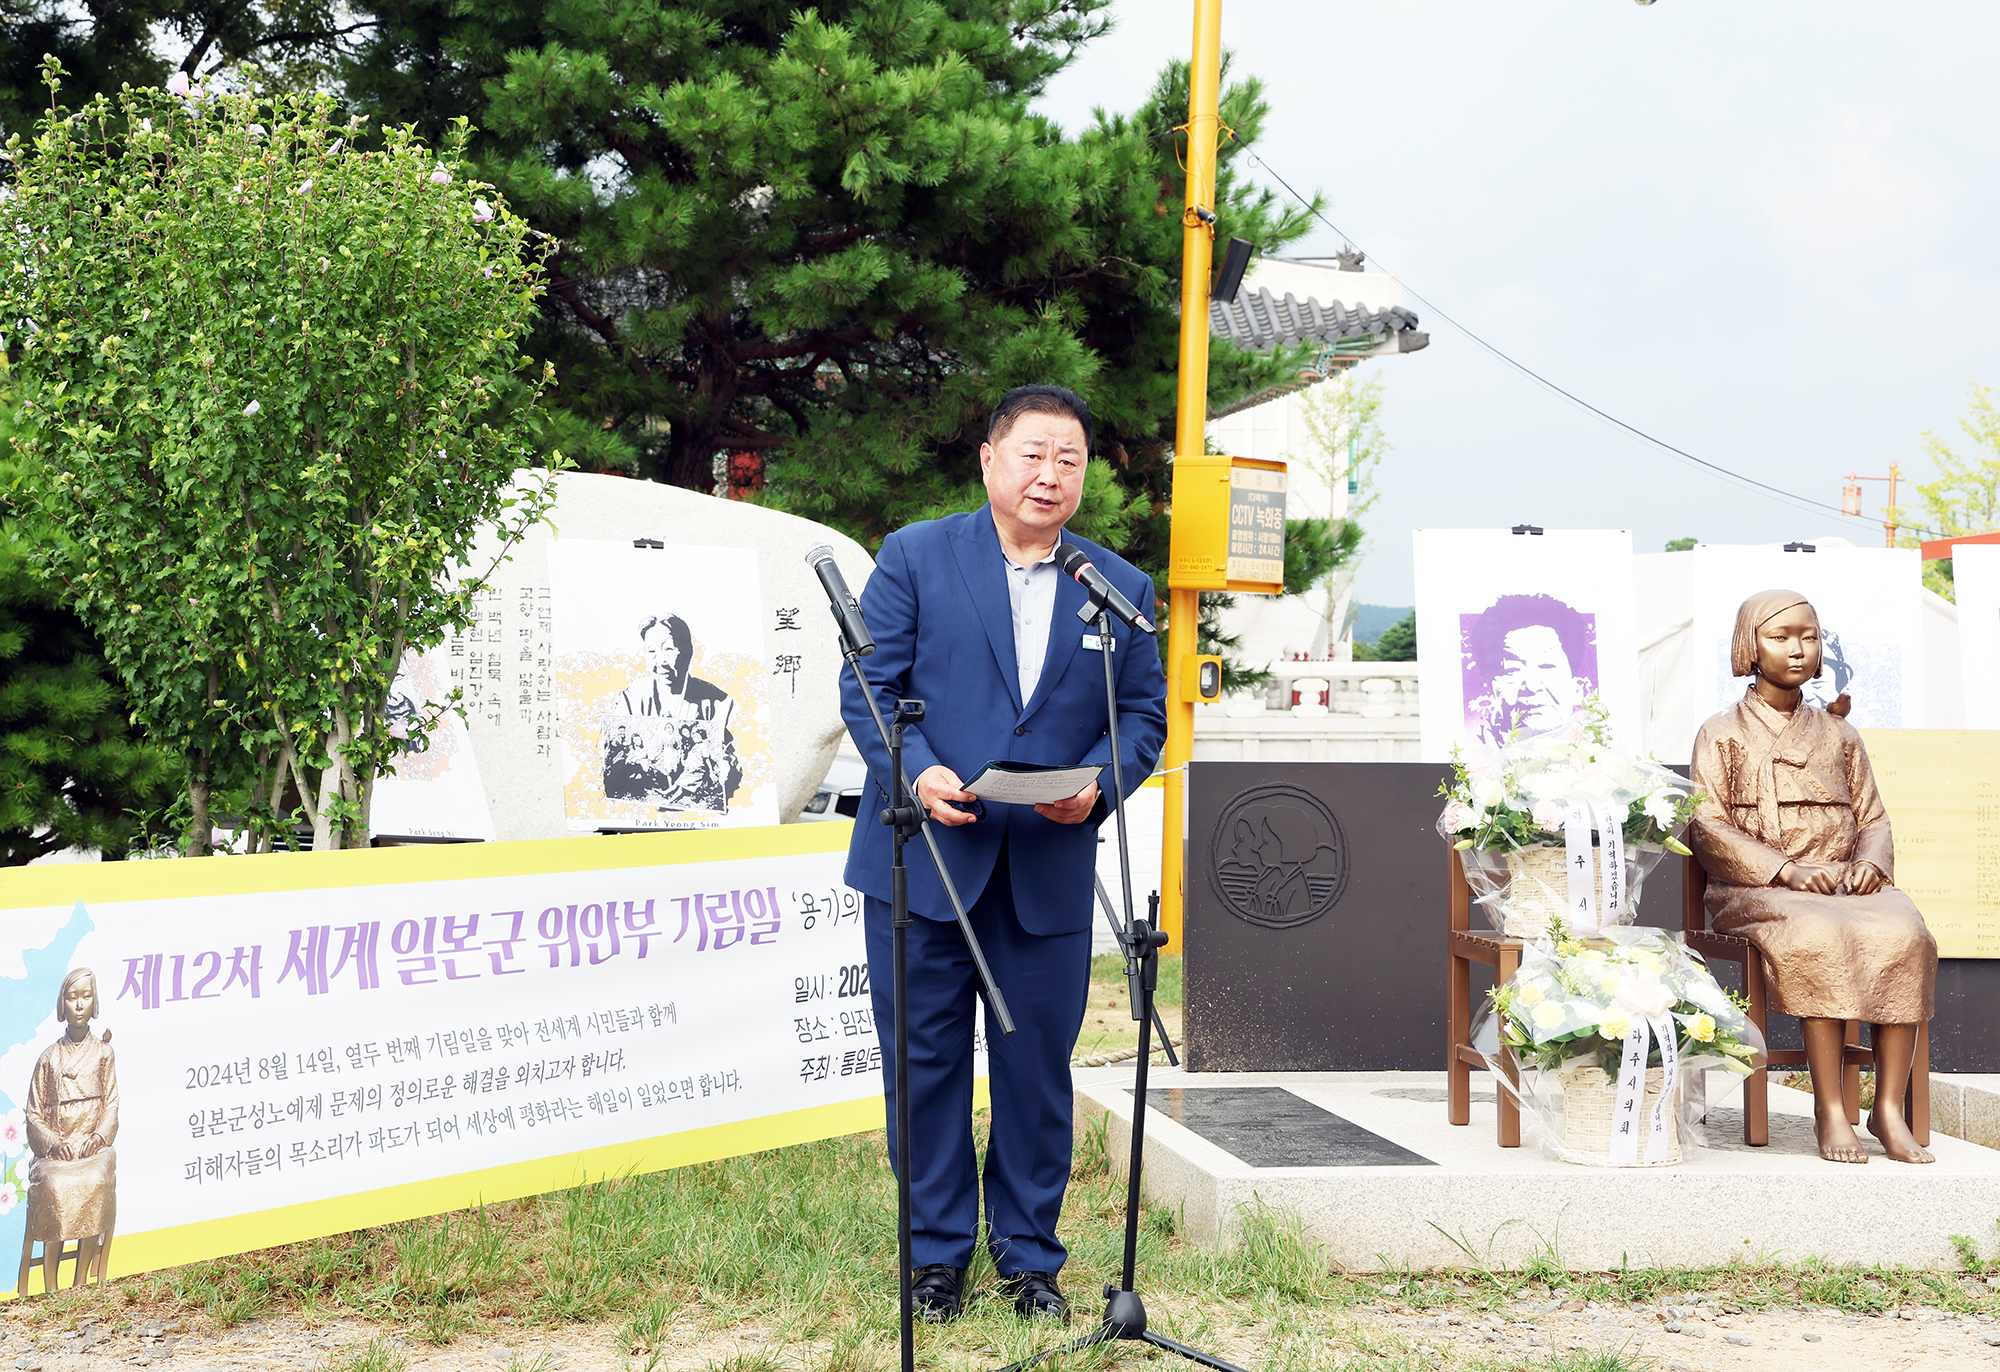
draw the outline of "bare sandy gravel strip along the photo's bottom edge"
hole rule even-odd
[[[1692,1300],[1692,1298],[1690,1298]],[[1358,1326],[1358,1328],[1356,1328]],[[1720,1304],[1598,1306],[1578,1300],[1512,1304],[1502,1310],[1426,1314],[1406,1306],[1340,1312],[1328,1338],[1370,1336],[1378,1350],[1414,1354],[1436,1366],[1534,1366],[1576,1348],[1614,1348],[1638,1368],[1660,1372],[1900,1372],[1904,1368],[2000,1368],[2000,1320],[1898,1310],[1852,1316],[1836,1310],[1770,1310],[1746,1314]],[[98,1322],[28,1328],[0,1314],[0,1372],[96,1372],[150,1368],[292,1370],[340,1366],[354,1350],[386,1340],[392,1358],[412,1372],[494,1368],[508,1372],[592,1372],[642,1368],[646,1358],[620,1346],[618,1328],[578,1324],[562,1330],[498,1328],[466,1334],[444,1348],[406,1340],[362,1320],[308,1324],[284,1316],[228,1330],[196,1320]],[[1256,1366],[1266,1352],[1260,1330],[1232,1330],[1214,1352]],[[686,1332],[670,1340],[656,1366],[702,1368],[728,1358],[770,1354],[784,1366],[812,1366],[822,1350],[786,1344],[764,1330]],[[944,1352],[944,1350],[940,1350]],[[956,1362],[946,1354],[946,1362]],[[374,1360],[372,1360],[374,1362]],[[1178,1366],[1178,1364],[1162,1364]]]

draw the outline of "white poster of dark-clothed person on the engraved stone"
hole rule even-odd
[[[558,538],[548,576],[570,830],[776,824],[756,552]]]

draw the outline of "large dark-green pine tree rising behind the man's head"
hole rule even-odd
[[[758,498],[866,544],[972,508],[1014,384],[1100,416],[1074,526],[1160,568],[1186,72],[1068,136],[1028,112],[1104,0],[392,0],[348,72],[384,122],[482,132],[480,174],[554,234],[538,338],[582,466]],[[1224,122],[1254,138],[1254,82]],[[1240,188],[1222,236],[1304,228]],[[1214,394],[1296,368],[1220,348]]]

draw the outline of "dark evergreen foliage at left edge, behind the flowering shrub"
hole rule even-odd
[[[50,532],[8,494],[20,488],[12,436],[0,394],[0,866],[62,848],[122,858],[178,776],[128,728],[98,642],[28,568]]]

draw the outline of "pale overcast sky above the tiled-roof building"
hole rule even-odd
[[[1112,14],[1042,100],[1068,128],[1188,52],[1192,0]],[[2000,386],[1990,2],[1224,0],[1222,42],[1266,82],[1260,152],[1370,270],[1710,462],[1838,508],[1848,470],[1932,476],[1924,430],[1962,440],[1968,382]],[[1882,538],[1878,482],[1864,520],[1746,492],[1406,304],[1430,348],[1362,364],[1394,446],[1362,600],[1412,602],[1420,526]]]

